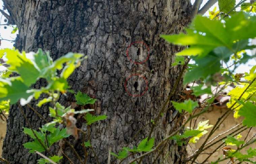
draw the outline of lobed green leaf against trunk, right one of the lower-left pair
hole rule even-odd
[[[47,140],[49,142],[49,146],[51,146],[53,143],[69,136],[70,135],[66,133],[66,128],[62,130],[56,129],[54,133],[47,135]]]

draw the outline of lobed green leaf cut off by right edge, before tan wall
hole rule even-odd
[[[252,102],[243,103],[243,107],[239,109],[238,114],[244,116],[243,125],[256,126],[256,105]]]

